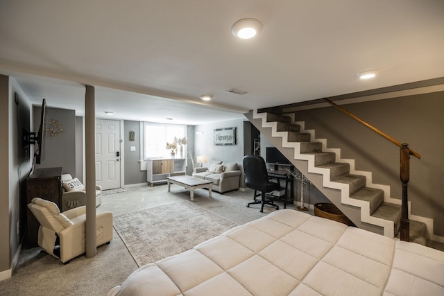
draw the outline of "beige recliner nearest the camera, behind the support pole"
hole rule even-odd
[[[57,204],[33,198],[28,208],[40,223],[38,245],[63,263],[86,252],[85,206],[60,213]],[[112,240],[112,213],[96,215],[96,246]]]

